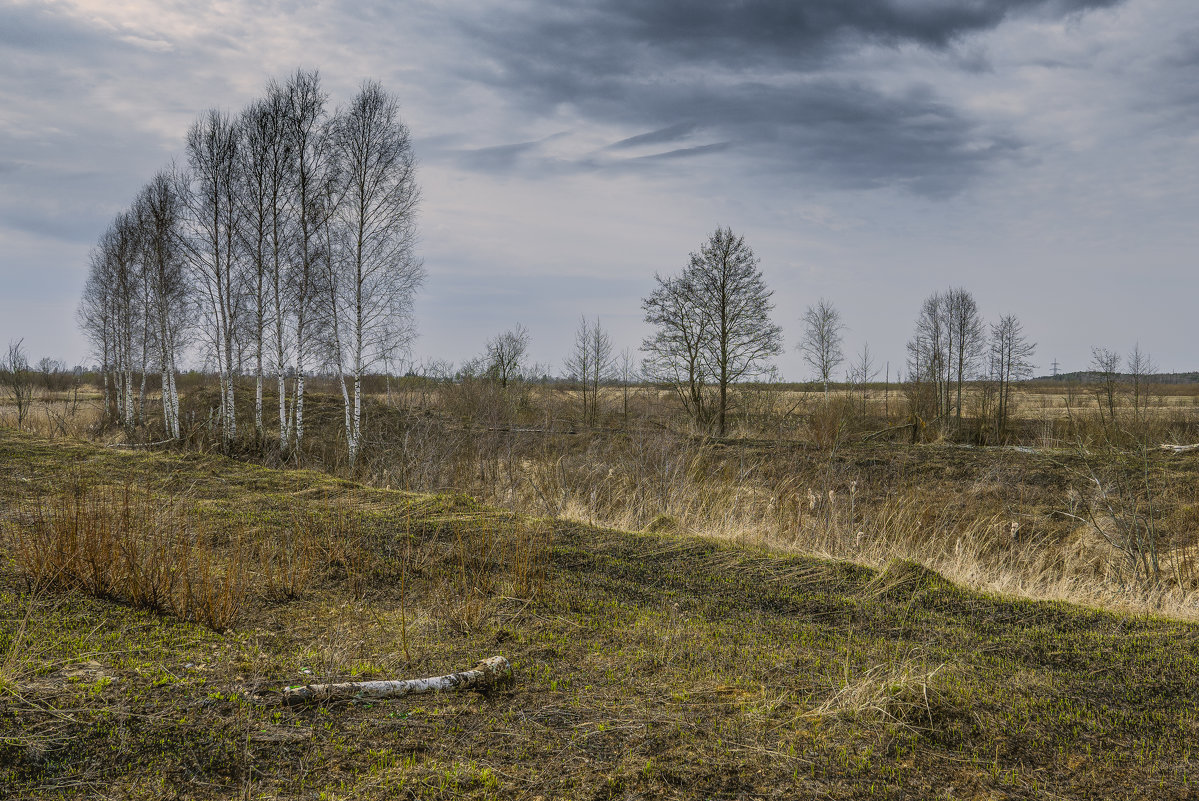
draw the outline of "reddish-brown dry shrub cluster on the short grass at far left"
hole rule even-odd
[[[245,552],[179,501],[126,483],[67,482],[17,512],[6,540],[31,591],[78,590],[216,631],[237,619],[249,584]]]

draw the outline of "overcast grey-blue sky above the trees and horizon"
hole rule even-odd
[[[951,284],[1042,372],[1137,342],[1199,369],[1195,0],[0,0],[0,344],[83,361],[108,222],[296,67],[399,98],[418,359],[519,321],[556,368],[582,314],[635,348],[653,273],[730,225],[791,379],[819,297],[893,377]]]

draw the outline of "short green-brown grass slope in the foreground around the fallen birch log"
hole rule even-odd
[[[38,520],[126,492],[174,510],[146,531],[203,540],[233,586],[228,630],[30,586]],[[0,508],[11,797],[1199,794],[1189,622],[11,429]],[[278,703],[493,655],[511,686]]]

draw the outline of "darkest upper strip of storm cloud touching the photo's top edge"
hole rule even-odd
[[[855,42],[944,48],[1020,14],[1064,17],[1123,0],[574,0],[505,11],[469,29],[525,64],[566,72],[635,72],[647,53],[673,61],[807,68]]]

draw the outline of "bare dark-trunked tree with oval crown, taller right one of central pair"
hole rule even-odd
[[[704,329],[701,359],[716,381],[716,432],[727,433],[729,390],[761,375],[783,349],[783,330],[771,321],[773,293],[745,237],[717,228],[687,265]]]

